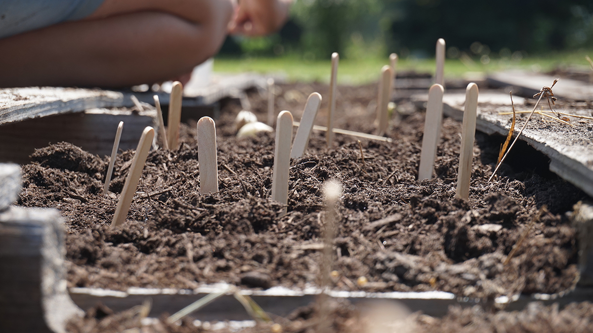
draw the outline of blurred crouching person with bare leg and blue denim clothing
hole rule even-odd
[[[227,34],[279,30],[291,2],[0,0],[0,87],[185,83]]]

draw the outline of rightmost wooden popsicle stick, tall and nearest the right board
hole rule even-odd
[[[463,111],[461,152],[459,154],[459,171],[457,174],[457,192],[455,193],[458,198],[465,200],[470,197],[471,163],[474,157],[477,107],[478,86],[472,82],[467,85],[466,89],[466,105]]]

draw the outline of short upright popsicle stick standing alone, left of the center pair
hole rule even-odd
[[[200,164],[200,194],[218,192],[216,127],[211,117],[197,121],[197,158]]]

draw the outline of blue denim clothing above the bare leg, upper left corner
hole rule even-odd
[[[87,17],[104,0],[0,0],[0,38]]]

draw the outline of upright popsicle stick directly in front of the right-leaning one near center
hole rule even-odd
[[[276,146],[272,171],[272,199],[288,204],[288,178],[291,165],[292,114],[282,111],[276,120]],[[286,214],[285,208],[281,215]]]

